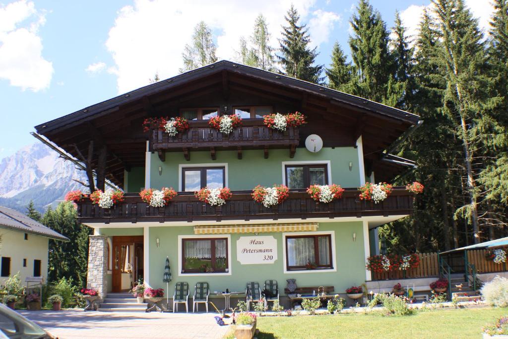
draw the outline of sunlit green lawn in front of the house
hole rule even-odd
[[[434,310],[405,317],[377,314],[261,317],[257,338],[480,338],[482,327],[502,315],[508,315],[508,309]],[[233,337],[231,334],[229,337]]]

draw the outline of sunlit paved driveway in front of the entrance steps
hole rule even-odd
[[[222,338],[216,314],[18,311],[59,338]]]

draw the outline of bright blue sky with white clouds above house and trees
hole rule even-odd
[[[1,1],[1,0],[0,0]],[[338,41],[346,53],[357,1],[293,0],[329,64]],[[371,0],[388,26],[395,10],[415,32],[430,1]],[[486,26],[490,6],[467,1]],[[478,4],[480,3],[480,4]],[[487,3],[487,1],[485,2]],[[0,2],[0,158],[34,143],[34,126],[148,84],[158,72],[174,76],[183,45],[199,20],[212,28],[219,59],[234,59],[240,36],[258,13],[267,17],[273,45],[291,1]]]

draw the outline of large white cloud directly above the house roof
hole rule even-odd
[[[118,92],[148,84],[158,72],[162,79],[178,74],[182,51],[190,42],[194,27],[204,20],[217,35],[217,57],[234,59],[240,37],[249,37],[256,17],[263,13],[272,35],[272,46],[278,46],[284,14],[294,4],[309,29],[322,34],[317,43],[328,39],[329,30],[338,21],[337,14],[326,14],[325,22],[311,24],[315,0],[258,0],[231,2],[227,0],[175,2],[136,0],[119,12],[109,31],[106,47],[115,61],[107,71],[117,75]],[[319,18],[322,19],[322,18]]]

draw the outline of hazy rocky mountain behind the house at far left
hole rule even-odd
[[[63,200],[68,191],[83,186],[72,179],[84,179],[84,173],[58,153],[35,143],[0,160],[0,205],[24,212],[31,200],[43,211]]]

